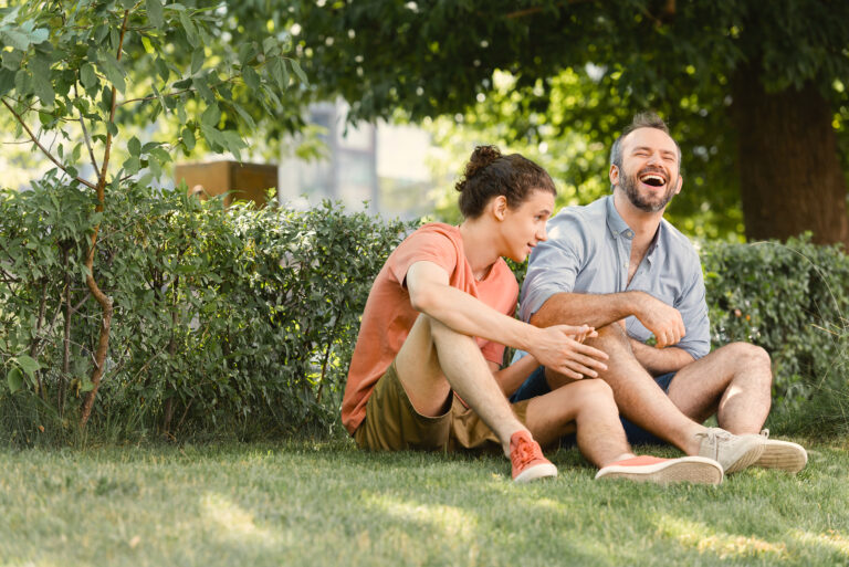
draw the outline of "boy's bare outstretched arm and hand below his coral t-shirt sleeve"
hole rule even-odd
[[[607,369],[602,363],[608,358],[605,353],[575,339],[591,332],[587,326],[537,328],[499,313],[476,297],[451,287],[448,272],[433,262],[413,263],[405,283],[416,311],[458,333],[521,348],[539,364],[570,378],[596,377],[596,370]]]

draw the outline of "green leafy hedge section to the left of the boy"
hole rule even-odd
[[[90,428],[114,439],[337,428],[365,300],[410,227],[329,202],[224,210],[138,186],[109,198],[108,219],[50,178],[0,199],[0,434],[77,431],[99,325],[83,259],[98,220],[115,316]]]

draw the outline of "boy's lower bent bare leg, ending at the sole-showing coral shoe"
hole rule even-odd
[[[586,378],[532,398],[526,419],[527,429],[543,445],[577,428],[578,449],[598,468],[633,456],[614,392],[604,380]]]

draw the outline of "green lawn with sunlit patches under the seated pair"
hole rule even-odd
[[[0,450],[0,566],[847,565],[849,441],[719,487],[347,442]],[[671,454],[653,450],[656,454]]]

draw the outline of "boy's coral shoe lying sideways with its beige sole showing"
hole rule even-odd
[[[681,459],[659,459],[657,456],[632,456],[625,461],[610,463],[596,473],[598,479],[626,479],[637,482],[693,482],[698,484],[720,484],[722,466],[704,456],[683,456]]]

